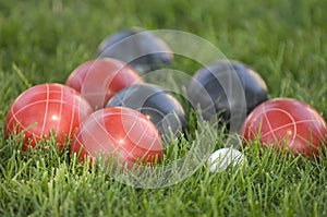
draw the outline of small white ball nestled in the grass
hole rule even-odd
[[[245,160],[244,155],[231,147],[225,147],[216,150],[210,155],[207,160],[207,166],[210,168],[210,172],[221,172],[226,170],[228,166],[235,167]]]

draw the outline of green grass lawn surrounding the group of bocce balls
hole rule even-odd
[[[143,190],[56,148],[22,153],[3,135],[20,93],[63,83],[106,36],[131,26],[198,35],[255,69],[270,97],[302,99],[327,119],[326,9],[323,0],[0,1],[0,216],[327,216],[326,157],[287,158],[254,143],[245,167],[210,174],[203,166]]]

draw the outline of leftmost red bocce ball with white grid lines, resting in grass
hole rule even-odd
[[[73,88],[61,84],[40,84],[22,93],[12,104],[5,119],[7,136],[24,134],[23,149],[51,133],[60,150],[80,123],[92,113],[88,103]]]

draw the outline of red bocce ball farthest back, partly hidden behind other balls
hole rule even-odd
[[[120,60],[104,58],[78,65],[65,84],[80,92],[97,110],[117,92],[135,83],[142,83],[142,79],[133,68]]]

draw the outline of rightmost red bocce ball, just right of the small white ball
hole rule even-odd
[[[244,145],[258,140],[307,157],[317,156],[327,142],[323,117],[307,104],[292,98],[276,98],[256,107],[245,120],[241,135]]]

